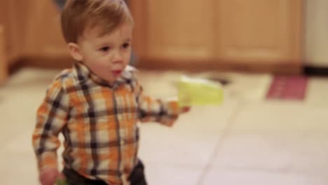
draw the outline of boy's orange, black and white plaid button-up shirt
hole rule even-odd
[[[137,163],[137,121],[172,125],[177,102],[142,95],[142,87],[125,69],[111,86],[77,62],[55,78],[37,111],[33,145],[39,170],[57,168],[58,134],[64,135],[65,167],[89,179],[128,184]]]

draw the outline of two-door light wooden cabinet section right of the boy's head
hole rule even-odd
[[[144,67],[299,71],[301,5],[301,0],[131,1],[134,47]]]

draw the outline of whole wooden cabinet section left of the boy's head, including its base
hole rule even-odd
[[[53,1],[0,1],[3,47],[10,67],[24,61],[41,67],[68,67],[70,57],[60,30],[60,10]]]

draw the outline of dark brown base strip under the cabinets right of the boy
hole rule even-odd
[[[143,58],[137,62],[140,69],[179,70],[179,71],[237,71],[273,74],[301,74],[302,67],[297,62],[238,63],[224,60],[167,60]]]

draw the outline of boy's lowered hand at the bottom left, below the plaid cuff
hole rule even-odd
[[[39,178],[42,185],[53,185],[56,179],[64,179],[64,175],[55,168],[45,168],[41,170]]]

